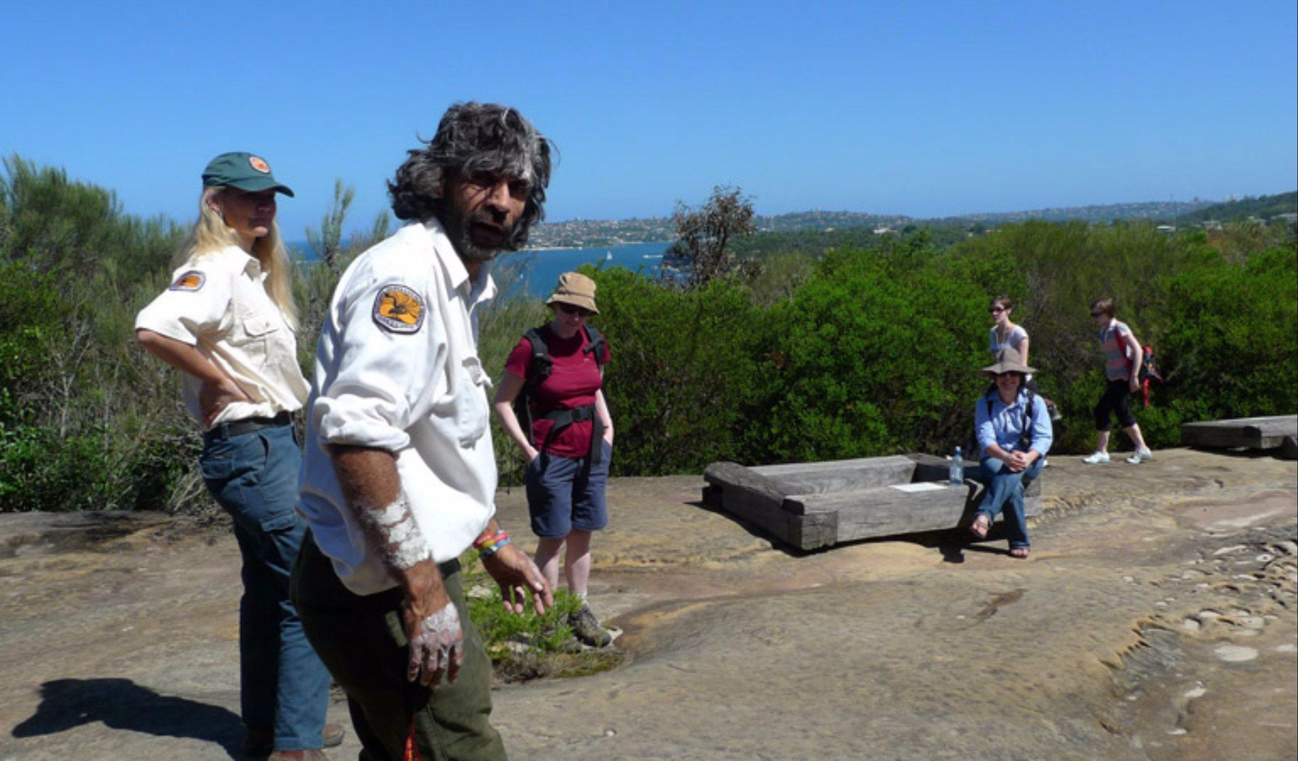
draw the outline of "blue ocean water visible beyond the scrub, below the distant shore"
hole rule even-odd
[[[289,243],[288,245],[301,252],[305,261],[315,258],[314,252],[305,242]],[[519,273],[527,293],[544,297],[554,290],[561,274],[572,271],[584,264],[619,266],[657,278],[662,274],[659,265],[667,245],[670,244],[666,242],[655,242],[600,248],[524,249],[501,255],[496,260],[496,279],[501,290],[511,290],[517,284],[513,281],[518,277],[515,273]],[[505,282],[506,278],[510,282]]]

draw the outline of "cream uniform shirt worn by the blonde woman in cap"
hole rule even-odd
[[[265,281],[261,262],[231,245],[191,257],[173,273],[171,286],[135,317],[136,330],[196,347],[252,399],[230,404],[213,425],[293,412],[306,400],[293,330],[266,293]],[[184,405],[201,426],[199,386],[183,374]]]

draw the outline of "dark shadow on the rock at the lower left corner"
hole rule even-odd
[[[243,721],[217,705],[158,695],[130,679],[53,679],[40,686],[36,713],[13,727],[14,738],[35,738],[104,722],[165,738],[192,738],[219,745],[234,760],[244,758]]]

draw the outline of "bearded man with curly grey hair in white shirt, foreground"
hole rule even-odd
[[[453,105],[388,183],[406,225],[347,269],[321,331],[293,597],[366,758],[505,757],[458,558],[478,549],[514,613],[553,599],[493,517],[476,310],[549,179],[550,144],[517,110]]]

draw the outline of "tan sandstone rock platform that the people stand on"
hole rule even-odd
[[[495,692],[514,758],[1293,758],[1298,470],[1051,458],[1027,561],[962,532],[819,552],[614,479],[592,601],[630,665]],[[520,490],[500,518],[531,547]],[[0,556],[0,761],[239,758],[239,556],[174,519]],[[347,722],[335,701],[331,718]],[[354,736],[334,758],[354,758]]]

